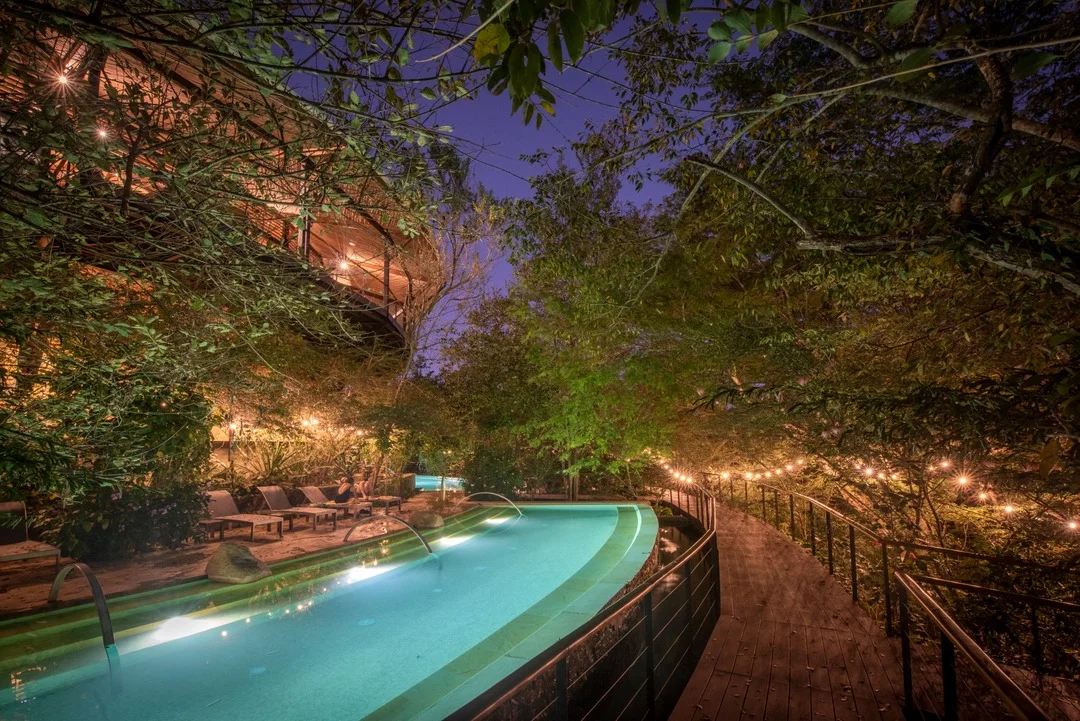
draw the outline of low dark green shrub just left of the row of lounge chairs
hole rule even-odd
[[[42,539],[82,560],[119,560],[157,547],[177,548],[201,533],[202,486],[191,480],[125,484],[85,491],[67,505],[32,504]]]

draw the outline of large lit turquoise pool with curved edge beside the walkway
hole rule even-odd
[[[309,590],[287,604],[268,606],[260,590],[138,626],[118,636],[111,677],[99,641],[93,663],[71,663],[85,658],[85,644],[13,659],[5,666],[18,667],[18,683],[0,699],[0,717],[442,719],[586,622],[633,579],[657,534],[647,506],[523,511],[471,514],[432,543],[437,559],[418,557],[414,543],[301,573],[297,587]],[[251,586],[274,585],[260,584]]]

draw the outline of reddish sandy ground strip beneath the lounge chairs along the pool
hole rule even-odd
[[[408,519],[414,511],[428,507],[435,500],[436,493],[420,493],[404,503],[401,514]],[[464,509],[462,505],[460,509]],[[382,515],[376,509],[375,516]],[[337,530],[330,523],[320,523],[319,530],[311,530],[310,523],[297,519],[293,531],[285,531],[284,539],[278,540],[276,532],[267,532],[265,528],[256,529],[255,542],[248,542],[247,528],[233,528],[226,531],[225,540],[243,544],[252,549],[256,558],[272,563],[274,561],[302,556],[316,550],[325,550],[340,546],[341,539],[352,526],[352,519],[339,519]],[[288,528],[288,525],[285,525]],[[393,533],[404,527],[390,520],[372,521],[356,529],[349,539],[367,539],[383,533]],[[160,588],[180,581],[189,581],[205,575],[206,560],[217,549],[218,542],[189,544],[175,550],[158,550],[143,554],[127,561],[96,562],[94,572],[102,584],[106,596]],[[65,558],[63,563],[73,559]],[[14,561],[0,566],[0,617],[21,614],[31,610],[42,610],[48,607],[49,588],[53,581],[53,559],[32,559]],[[62,603],[90,600],[90,588],[77,575],[69,576],[60,590]]]

